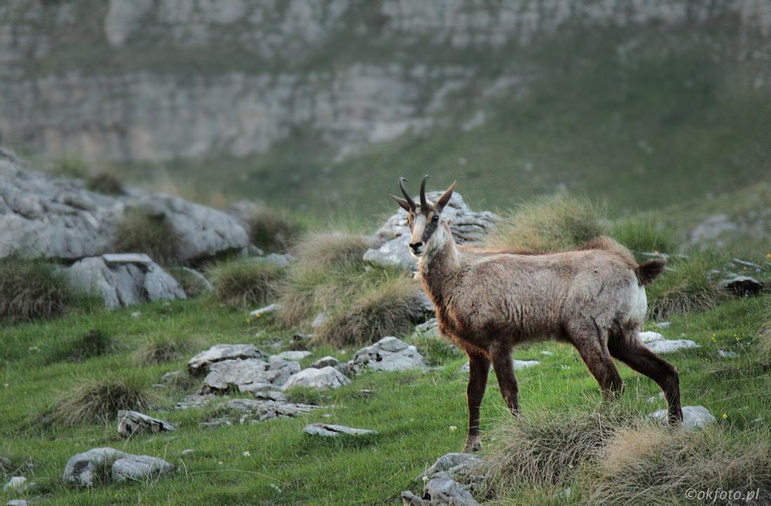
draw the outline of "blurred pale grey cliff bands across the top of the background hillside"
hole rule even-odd
[[[302,130],[339,160],[447,123],[459,89],[527,80],[475,79],[473,58],[436,54],[516,48],[574,25],[726,17],[765,37],[771,0],[6,0],[0,142],[157,161],[259,153]]]

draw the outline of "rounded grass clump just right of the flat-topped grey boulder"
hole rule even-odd
[[[278,297],[284,269],[258,258],[225,261],[210,270],[212,295],[240,309],[264,304]]]

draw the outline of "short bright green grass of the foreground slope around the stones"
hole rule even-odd
[[[746,427],[756,424],[752,420],[771,420],[771,380],[752,347],[768,302],[767,297],[728,302],[712,312],[673,319],[663,331],[669,338],[684,334],[702,345],[668,359],[681,373],[685,404],[707,406],[729,437],[741,437]],[[164,372],[184,367],[185,359],[160,366],[136,363],[132,352],[148,336],[187,336],[200,349],[215,342],[254,342],[266,351],[271,342],[286,337],[270,325],[248,322],[244,312],[200,301],[146,305],[139,317],[132,317],[132,311],[72,316],[0,331],[0,455],[22,465],[20,474],[38,484],[35,504],[398,504],[402,490],[419,490],[421,484],[413,481],[419,472],[439,455],[460,449],[466,377],[457,369],[463,359],[451,359],[443,369],[426,373],[359,376],[350,386],[319,394],[317,401],[325,407],[297,420],[200,428],[198,422],[211,416],[210,409],[161,410],[183,393],[156,389],[159,410],[149,414],[177,424],[176,433],[124,441],[117,437],[114,423],[68,428],[36,422],[49,410],[54,393],[67,390],[79,378],[130,378],[149,387]],[[68,343],[93,328],[112,337],[114,351],[84,363],[63,359]],[[260,329],[268,333],[255,338]],[[736,351],[739,358],[723,359],[718,349]],[[328,352],[343,356],[322,349],[306,362]],[[529,346],[515,357],[541,360],[539,366],[517,375],[524,416],[537,409],[593,410],[600,403],[594,379],[569,347]],[[658,395],[655,384],[624,366],[620,369],[628,386],[621,403],[640,416],[663,407],[663,401],[653,405],[646,401]],[[485,433],[507,420],[493,381],[483,403]],[[312,422],[375,429],[379,435],[316,440],[301,431]],[[63,487],[66,460],[101,446],[166,458],[177,465],[177,474],[94,491]],[[183,455],[188,448],[194,452]],[[31,470],[24,467],[27,461],[34,465]],[[10,498],[12,494],[0,494],[0,500]]]

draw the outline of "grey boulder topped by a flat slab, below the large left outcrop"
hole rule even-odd
[[[100,295],[111,309],[187,298],[177,280],[152,261],[108,265],[103,257],[88,257],[76,261],[64,273],[72,288]]]

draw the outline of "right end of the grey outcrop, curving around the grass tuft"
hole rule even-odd
[[[180,197],[148,195],[131,201],[127,207],[169,224],[178,244],[177,258],[183,261],[241,251],[249,244],[246,231],[230,214]]]

